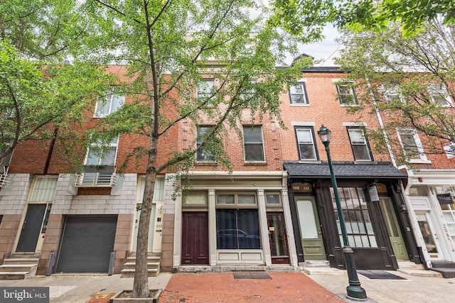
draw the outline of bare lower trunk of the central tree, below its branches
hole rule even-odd
[[[142,201],[141,216],[137,229],[136,268],[134,272],[133,294],[134,298],[149,297],[149,276],[147,270],[149,225],[151,206],[154,196],[156,181],[156,148],[158,138],[151,138],[149,159],[147,162],[144,200]]]

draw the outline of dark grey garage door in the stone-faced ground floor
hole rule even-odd
[[[56,272],[108,272],[117,216],[67,216]]]

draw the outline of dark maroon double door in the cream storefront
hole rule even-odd
[[[208,212],[182,214],[182,265],[208,264]]]

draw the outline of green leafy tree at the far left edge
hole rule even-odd
[[[0,3],[0,162],[26,139],[70,131],[112,79],[74,60],[90,32],[74,2]]]

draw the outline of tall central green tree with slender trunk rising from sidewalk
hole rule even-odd
[[[268,28],[261,16],[250,18],[248,11],[262,10],[255,1],[95,0],[81,9],[97,24],[93,39],[85,42],[92,53],[85,57],[96,65],[127,64],[132,79],[125,89],[133,100],[103,119],[95,138],[119,133],[148,138],[128,157],[147,159],[132,294],[147,297],[147,241],[156,174],[190,170],[198,151],[230,170],[225,138],[241,136],[245,116],[251,123],[269,116],[281,121],[279,94],[308,61],[276,68],[295,44]],[[215,85],[197,97],[204,77]],[[211,127],[158,163],[159,140],[183,121],[193,128],[200,123]]]

